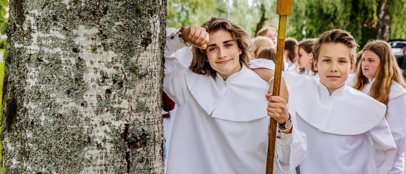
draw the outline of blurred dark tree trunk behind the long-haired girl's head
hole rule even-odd
[[[389,11],[389,4],[391,0],[378,1],[378,35],[377,39],[389,40],[391,15]]]

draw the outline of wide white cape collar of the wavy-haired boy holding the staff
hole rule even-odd
[[[190,70],[185,77],[194,99],[213,118],[241,122],[267,116],[269,84],[245,66],[225,81],[219,74],[213,79]]]

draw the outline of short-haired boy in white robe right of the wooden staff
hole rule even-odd
[[[296,115],[297,128],[309,140],[301,174],[387,174],[392,168],[396,145],[384,117],[385,105],[345,85],[354,70],[357,46],[349,32],[324,32],[312,51],[320,81],[284,73],[291,87],[289,103],[296,109],[290,114]],[[251,68],[272,69],[272,62],[266,61],[253,60]],[[254,71],[265,80],[271,78],[267,70]]]

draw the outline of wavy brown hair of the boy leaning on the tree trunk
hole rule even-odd
[[[245,30],[226,18],[213,16],[212,19],[206,21],[201,26],[206,29],[210,34],[218,30],[225,30],[231,33],[233,39],[237,41],[238,48],[241,49],[242,54],[240,54],[240,64],[245,65],[249,68],[249,61],[253,59],[252,48],[251,48],[251,38]],[[193,60],[189,66],[190,71],[201,74],[216,77],[216,71],[207,62],[207,54],[205,49],[200,49],[198,47],[192,47]]]

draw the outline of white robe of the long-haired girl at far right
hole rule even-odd
[[[375,79],[362,90],[369,95]],[[395,165],[389,174],[404,174],[404,155],[406,149],[406,90],[397,82],[393,81],[389,92],[388,115],[386,121],[397,146],[397,158]]]

